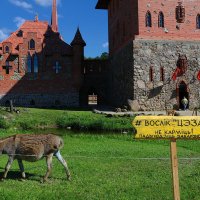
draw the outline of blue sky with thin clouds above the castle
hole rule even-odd
[[[107,12],[95,10],[97,0],[57,0],[59,32],[70,43],[79,26],[87,43],[86,57],[108,51]],[[15,31],[24,20],[51,21],[52,0],[1,0],[0,41]]]

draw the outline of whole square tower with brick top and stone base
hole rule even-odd
[[[136,110],[200,106],[200,1],[98,0],[108,10],[110,100]]]

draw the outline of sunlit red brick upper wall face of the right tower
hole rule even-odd
[[[178,0],[153,1],[139,0],[139,35],[137,38],[169,39],[169,40],[200,40],[200,29],[196,28],[196,17],[200,13],[199,0],[182,1],[185,8],[185,20],[178,23],[176,20],[176,6]],[[150,11],[152,27],[145,27],[145,15]],[[158,14],[162,11],[165,19],[165,28],[158,27]]]

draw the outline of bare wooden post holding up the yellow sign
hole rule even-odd
[[[174,200],[180,200],[176,140],[171,140],[171,165],[172,165]]]

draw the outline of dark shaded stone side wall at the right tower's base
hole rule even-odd
[[[133,99],[133,43],[129,43],[110,58],[110,104],[127,105]]]

